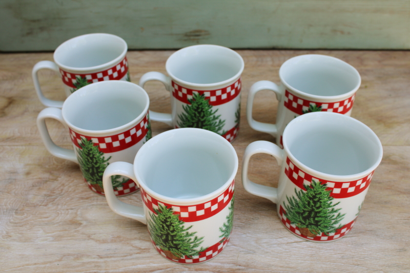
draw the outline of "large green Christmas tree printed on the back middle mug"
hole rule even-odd
[[[192,99],[188,99],[188,101],[191,104],[182,106],[185,113],[178,115],[179,128],[201,128],[220,135],[226,133],[220,133],[225,125],[225,120],[219,119],[220,115],[215,115],[218,109],[212,111],[212,105],[209,104],[208,99],[205,99],[204,94],[194,93]]]

